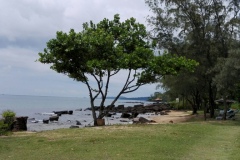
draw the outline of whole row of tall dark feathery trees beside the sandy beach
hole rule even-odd
[[[169,53],[199,63],[194,73],[167,75],[159,85],[170,97],[214,117],[216,98],[239,99],[240,14],[238,0],[146,0],[151,38]],[[205,114],[206,115],[206,114]]]

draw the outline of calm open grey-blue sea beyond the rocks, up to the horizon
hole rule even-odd
[[[109,105],[112,99],[107,99],[105,105]],[[118,100],[116,106],[124,104],[133,106],[135,100]],[[97,99],[95,106],[100,104]],[[52,112],[60,110],[76,110],[90,107],[89,98],[77,97],[52,97],[52,96],[23,96],[23,95],[0,95],[0,113],[10,109],[16,112],[17,116],[31,116],[36,113]]]

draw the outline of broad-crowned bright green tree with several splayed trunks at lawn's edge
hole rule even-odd
[[[57,32],[56,38],[47,42],[47,48],[39,56],[41,63],[51,64],[51,69],[87,86],[94,125],[97,125],[97,118],[104,116],[110,81],[121,70],[127,72],[126,77],[122,77],[123,87],[111,105],[122,94],[136,91],[163,75],[196,66],[195,61],[184,57],[155,56],[145,26],[134,18],[120,22],[119,15],[111,21],[84,23],[79,33],[73,29],[68,34]],[[101,104],[97,117],[94,101],[98,97]]]

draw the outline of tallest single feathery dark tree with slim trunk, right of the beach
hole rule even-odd
[[[207,101],[213,117],[217,95],[213,82],[217,73],[213,68],[219,57],[228,57],[229,51],[237,47],[231,45],[239,35],[237,0],[146,0],[146,3],[154,14],[149,23],[153,26],[152,39],[158,41],[158,46],[199,62],[196,71],[188,74],[190,83],[195,80],[192,89],[200,96],[195,96],[194,101],[199,98]],[[175,80],[181,81],[177,79],[180,77]],[[183,89],[188,83],[184,84]]]

